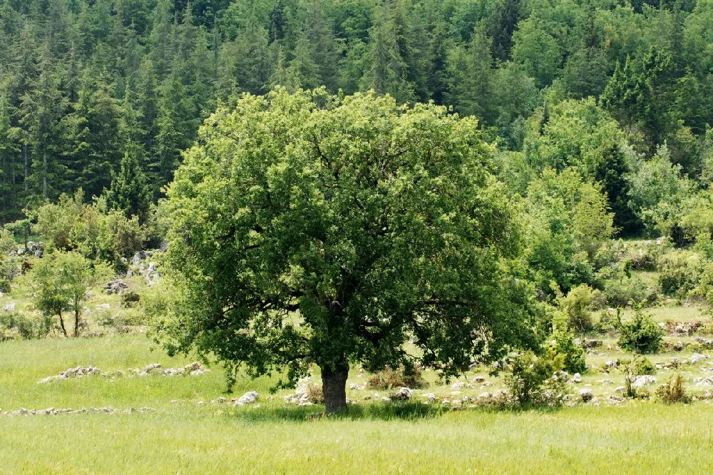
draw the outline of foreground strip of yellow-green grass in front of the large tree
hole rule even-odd
[[[713,408],[389,412],[304,420],[271,409],[0,418],[22,474],[707,474]]]

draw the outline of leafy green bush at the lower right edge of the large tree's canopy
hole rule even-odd
[[[549,350],[538,357],[528,351],[509,359],[508,366],[505,384],[521,407],[559,405],[564,401],[565,379],[558,374],[564,367],[562,354]]]

